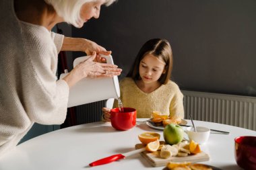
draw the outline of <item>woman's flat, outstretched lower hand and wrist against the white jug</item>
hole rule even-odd
[[[89,56],[87,60],[80,62],[66,77],[63,78],[72,87],[84,77],[114,77],[120,75],[122,69],[117,68],[117,65],[95,62],[96,52]]]

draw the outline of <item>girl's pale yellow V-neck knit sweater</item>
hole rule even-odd
[[[137,87],[133,79],[126,77],[120,81],[120,99],[125,108],[135,108],[137,118],[150,118],[153,111],[170,116],[184,118],[183,94],[178,85],[168,81],[151,93],[144,93]],[[115,100],[113,108],[118,108]]]

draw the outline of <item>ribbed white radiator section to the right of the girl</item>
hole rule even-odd
[[[256,97],[182,91],[185,119],[229,124],[256,130]]]

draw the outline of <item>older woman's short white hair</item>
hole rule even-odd
[[[57,14],[63,17],[68,24],[80,28],[83,22],[80,17],[80,9],[84,3],[97,0],[44,0],[49,5],[52,5]],[[106,0],[104,5],[108,6],[116,0]],[[84,23],[83,23],[84,24]]]

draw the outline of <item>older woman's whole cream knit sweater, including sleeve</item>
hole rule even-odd
[[[57,81],[63,36],[20,22],[13,1],[0,1],[0,157],[38,124],[62,124],[69,87]]]

